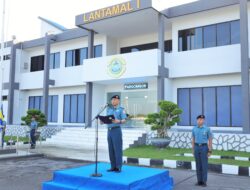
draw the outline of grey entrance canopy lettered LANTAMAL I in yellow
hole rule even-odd
[[[159,12],[151,0],[132,0],[76,16],[76,25],[114,38],[158,31]],[[167,19],[165,19],[167,26]]]

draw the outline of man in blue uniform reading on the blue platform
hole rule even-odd
[[[122,168],[122,130],[121,125],[126,122],[126,112],[120,107],[120,97],[111,98],[111,106],[107,109],[107,115],[114,115],[112,124],[108,124],[108,147],[111,168],[108,172],[121,172]]]

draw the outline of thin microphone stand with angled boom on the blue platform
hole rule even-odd
[[[91,174],[92,177],[102,177],[101,173],[98,173],[98,118],[99,115],[108,107],[108,105],[101,108],[97,115],[92,119],[91,123],[96,121],[95,126],[95,173]]]

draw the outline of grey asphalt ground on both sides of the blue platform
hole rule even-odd
[[[50,180],[54,170],[84,165],[80,161],[51,158],[21,158],[0,161],[1,190],[40,190],[43,181]],[[175,190],[250,190],[249,177],[209,174],[207,188],[195,187],[195,173],[187,170],[171,170]]]

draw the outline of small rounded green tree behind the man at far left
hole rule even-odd
[[[23,121],[22,125],[30,126],[32,116],[36,117],[36,121],[38,123],[38,127],[44,127],[47,125],[47,119],[44,113],[40,110],[30,109],[27,111],[27,115],[22,117],[21,120]],[[36,138],[39,139],[41,132],[36,132]]]

